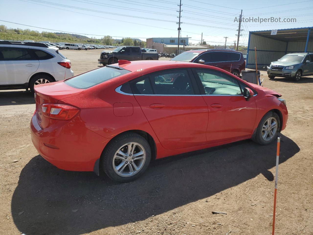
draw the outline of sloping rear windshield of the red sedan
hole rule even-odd
[[[130,71],[126,69],[120,70],[111,67],[102,67],[70,78],[64,81],[64,83],[74,88],[87,89],[89,87],[98,85],[104,81],[124,75],[126,73],[130,73]]]

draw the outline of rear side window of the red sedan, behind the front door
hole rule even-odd
[[[187,70],[164,70],[141,77],[131,83],[134,94],[193,95],[193,86]]]

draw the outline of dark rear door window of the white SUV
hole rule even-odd
[[[27,48],[0,47],[0,60],[37,60]]]

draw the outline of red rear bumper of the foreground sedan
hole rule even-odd
[[[34,113],[31,138],[38,153],[62,170],[93,171],[97,159],[110,141],[73,121],[52,120],[42,129]]]

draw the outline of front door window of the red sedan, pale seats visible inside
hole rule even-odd
[[[214,70],[195,69],[206,95],[241,95],[236,79]]]

